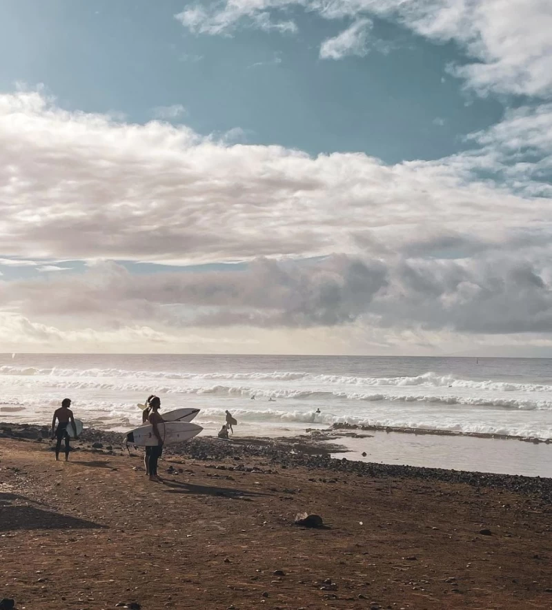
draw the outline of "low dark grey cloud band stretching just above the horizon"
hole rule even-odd
[[[130,274],[116,263],[83,275],[0,283],[0,306],[30,318],[163,327],[421,328],[467,334],[552,332],[552,265],[511,256],[466,261],[257,258],[240,270]]]

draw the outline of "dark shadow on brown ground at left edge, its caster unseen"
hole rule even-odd
[[[105,525],[86,521],[34,506],[12,504],[15,501],[32,502],[17,494],[0,494],[0,531],[14,529],[104,529]]]

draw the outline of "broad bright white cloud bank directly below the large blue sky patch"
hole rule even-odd
[[[391,250],[429,226],[500,241],[551,221],[540,173],[550,157],[540,130],[550,116],[520,109],[474,134],[471,151],[384,165],[365,154],[312,157],[199,136],[186,125],[68,112],[39,93],[4,94],[3,252],[40,264],[354,254],[360,227]],[[524,134],[527,154],[522,147],[514,155]]]

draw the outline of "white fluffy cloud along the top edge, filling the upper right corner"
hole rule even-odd
[[[335,20],[381,17],[431,40],[455,41],[469,59],[453,72],[480,92],[552,93],[549,0],[226,0],[188,7],[177,19],[196,33],[228,34],[244,23],[293,32],[293,9]]]

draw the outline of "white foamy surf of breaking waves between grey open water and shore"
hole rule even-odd
[[[267,430],[285,434],[286,427],[298,431],[310,425],[350,423],[552,438],[552,385],[547,385],[546,372],[535,377],[542,380],[539,384],[531,383],[529,377],[527,383],[518,383],[525,378],[518,372],[515,381],[509,380],[502,367],[493,369],[498,378],[490,375],[489,380],[482,380],[470,379],[469,370],[467,378],[435,372],[395,377],[327,374],[332,370],[327,361],[315,374],[285,369],[217,372],[205,366],[201,372],[184,366],[179,371],[168,359],[169,370],[155,371],[148,369],[147,358],[139,362],[145,370],[139,370],[139,365],[126,369],[123,357],[110,360],[120,367],[90,367],[88,364],[102,361],[92,356],[90,360],[81,358],[81,368],[76,363],[72,367],[69,358],[57,360],[63,367],[23,366],[23,356],[17,357],[21,358],[19,365],[10,359],[0,367],[2,403],[22,409],[3,414],[17,421],[49,424],[52,408],[69,396],[86,422],[123,429],[139,423],[136,403],[155,393],[162,396],[164,409],[183,403],[197,406],[201,409],[198,421],[213,429],[229,408],[246,425],[248,434]],[[50,364],[46,356],[27,362]],[[277,359],[275,363],[278,366]],[[288,364],[285,358],[280,363]],[[309,364],[309,370],[317,370],[312,363],[306,367]],[[224,366],[229,368],[228,360]],[[344,367],[334,370],[347,372]],[[253,396],[257,400],[250,401]],[[276,402],[267,404],[269,398]],[[320,415],[315,414],[318,407]]]

